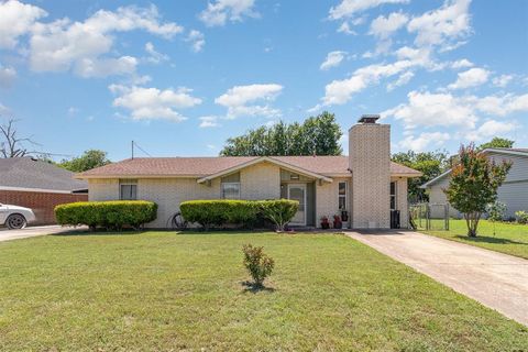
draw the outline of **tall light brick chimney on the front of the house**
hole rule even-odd
[[[391,125],[362,116],[349,130],[352,228],[391,228]]]

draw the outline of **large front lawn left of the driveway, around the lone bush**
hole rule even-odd
[[[244,243],[276,263],[248,290]],[[344,235],[0,243],[1,351],[520,351],[528,328]]]

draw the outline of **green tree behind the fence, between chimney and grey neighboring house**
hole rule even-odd
[[[409,198],[411,202],[428,201],[426,190],[420,188],[428,180],[433,179],[449,167],[447,152],[424,152],[414,151],[393,154],[393,162],[403,164],[422,173],[421,177],[410,178],[408,183]]]

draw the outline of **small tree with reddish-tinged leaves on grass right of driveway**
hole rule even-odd
[[[497,200],[497,189],[506,179],[512,164],[495,164],[479,153],[474,144],[462,145],[458,160],[444,193],[448,201],[464,215],[468,235],[474,238],[481,216],[486,212],[487,205]]]

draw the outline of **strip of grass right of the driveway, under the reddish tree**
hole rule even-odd
[[[526,224],[513,222],[495,222],[494,224],[491,221],[481,220],[476,238],[468,237],[465,220],[451,219],[449,228],[449,231],[420,230],[420,232],[528,258],[528,226]]]

